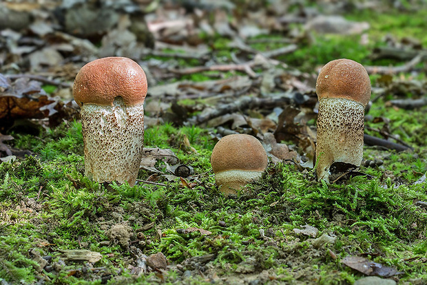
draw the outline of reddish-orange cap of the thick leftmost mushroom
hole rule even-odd
[[[117,96],[123,98],[126,106],[133,106],[144,103],[147,77],[132,59],[105,57],[81,67],[72,92],[80,107],[83,103],[112,106]]]

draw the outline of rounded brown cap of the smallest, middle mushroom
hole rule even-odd
[[[267,154],[261,142],[247,134],[231,134],[213,147],[211,165],[214,173],[229,170],[264,171]]]

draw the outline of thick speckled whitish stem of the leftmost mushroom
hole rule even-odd
[[[135,184],[144,143],[143,104],[126,107],[121,97],[113,106],[81,107],[85,175],[96,182]]]

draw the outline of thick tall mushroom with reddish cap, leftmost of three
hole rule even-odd
[[[81,68],[72,92],[81,107],[85,175],[134,185],[143,156],[145,72],[125,57],[96,59]]]

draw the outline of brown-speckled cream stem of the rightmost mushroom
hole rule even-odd
[[[360,167],[363,134],[362,104],[342,98],[321,99],[317,116],[317,180],[329,182],[329,168],[334,162]]]

